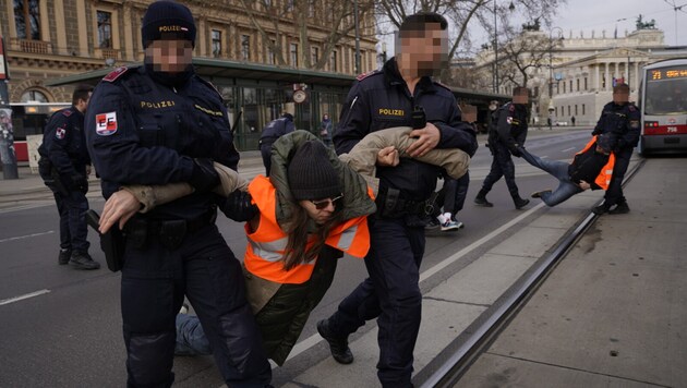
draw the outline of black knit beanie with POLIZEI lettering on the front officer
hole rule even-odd
[[[174,1],[152,3],[143,16],[143,47],[147,47],[153,40],[159,40],[162,34],[177,35],[180,39],[190,40],[195,47],[195,22],[191,10]]]

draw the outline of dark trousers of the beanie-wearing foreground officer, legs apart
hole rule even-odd
[[[129,387],[174,380],[174,318],[184,294],[201,319],[229,387],[264,387],[272,368],[245,299],[241,265],[214,223],[170,251],[157,237],[126,242],[121,305]]]

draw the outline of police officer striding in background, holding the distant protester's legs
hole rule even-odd
[[[520,209],[530,203],[530,199],[520,197],[518,185],[515,183],[515,165],[510,157],[511,155],[520,157],[518,147],[522,147],[527,138],[528,102],[529,89],[516,87],[513,90],[513,101],[494,112],[493,124],[490,125],[489,130],[489,148],[494,158],[492,168],[482,183],[482,189],[474,197],[474,203],[480,206],[494,206],[494,204],[486,201],[486,194],[492,190],[494,183],[498,182],[501,177],[506,179],[506,185],[516,209]]]

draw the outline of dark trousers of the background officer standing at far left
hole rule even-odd
[[[60,247],[87,253],[91,243],[87,240],[86,211],[88,210],[88,199],[86,199],[86,194],[73,191],[68,195],[58,193],[52,195],[60,214]]]

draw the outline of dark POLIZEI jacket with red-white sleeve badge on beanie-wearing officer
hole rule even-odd
[[[217,89],[195,74],[181,85],[166,85],[145,66],[119,68],[100,81],[88,105],[86,141],[106,198],[126,184],[188,182],[194,158],[234,170],[239,162]],[[216,199],[196,192],[148,215],[192,219]]]

